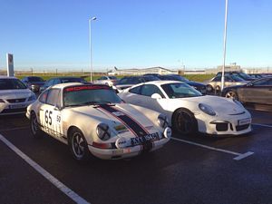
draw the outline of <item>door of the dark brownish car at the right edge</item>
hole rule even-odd
[[[248,83],[238,90],[242,102],[256,102],[272,104],[272,79],[263,78],[253,83]]]

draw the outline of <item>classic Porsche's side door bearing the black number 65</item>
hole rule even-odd
[[[46,101],[40,109],[40,120],[43,121],[44,131],[58,140],[63,140],[61,90],[50,89]]]

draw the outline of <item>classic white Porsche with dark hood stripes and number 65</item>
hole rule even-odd
[[[28,106],[34,137],[42,131],[68,144],[76,160],[121,159],[153,151],[170,140],[167,117],[122,102],[106,85],[62,83]]]

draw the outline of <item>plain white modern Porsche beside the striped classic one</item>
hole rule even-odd
[[[202,95],[186,83],[141,83],[119,93],[124,102],[168,116],[175,131],[210,135],[239,135],[251,131],[251,115],[235,100]]]

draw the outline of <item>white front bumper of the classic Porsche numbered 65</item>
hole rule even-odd
[[[161,138],[160,141],[152,141],[152,148],[150,151],[155,151],[160,149],[166,142],[170,141],[170,138]],[[144,152],[142,145],[137,145],[134,147],[126,147],[121,149],[99,149],[88,146],[92,154],[102,160],[120,160],[125,158],[135,157],[141,152]]]

